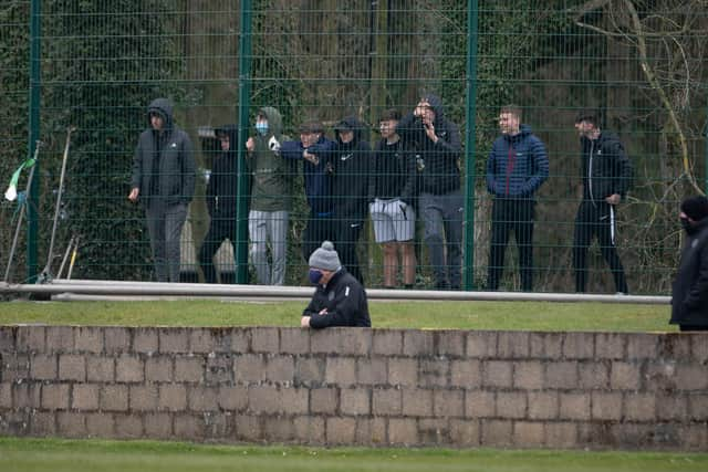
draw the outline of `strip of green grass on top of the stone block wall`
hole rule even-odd
[[[299,326],[304,302],[0,302],[0,324]],[[374,327],[674,332],[667,305],[371,302]]]

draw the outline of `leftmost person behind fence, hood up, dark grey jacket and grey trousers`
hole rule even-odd
[[[195,193],[194,146],[175,125],[167,98],[150,103],[147,120],[133,157],[128,199],[145,209],[157,281],[179,282],[179,238]]]

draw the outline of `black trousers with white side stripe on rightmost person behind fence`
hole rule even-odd
[[[573,270],[575,271],[575,291],[585,292],[587,283],[587,248],[593,238],[597,238],[600,252],[610,265],[615,281],[615,291],[628,293],[624,268],[615,243],[616,222],[615,206],[583,200],[577,207],[575,216],[575,231],[573,235]]]

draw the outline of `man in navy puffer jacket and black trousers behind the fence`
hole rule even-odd
[[[499,289],[511,232],[519,249],[521,290],[530,292],[533,287],[534,195],[549,177],[549,158],[543,141],[521,124],[521,118],[519,106],[501,108],[501,136],[487,160],[487,189],[494,197],[487,279],[487,289],[492,291]]]

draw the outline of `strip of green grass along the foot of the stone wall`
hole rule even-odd
[[[708,470],[708,454],[487,449],[324,449],[0,438],[0,470],[691,472]]]

